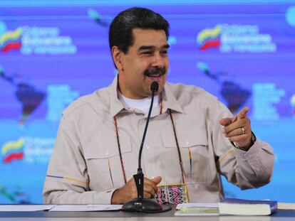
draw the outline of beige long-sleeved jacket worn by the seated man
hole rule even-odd
[[[162,92],[162,105],[152,110],[142,156],[145,177],[162,176],[162,185],[182,182],[169,109],[190,202],[221,200],[220,175],[242,189],[269,183],[274,166],[269,144],[257,140],[247,152],[235,149],[219,125],[219,119],[232,117],[227,107],[198,87],[170,83]],[[125,176],[129,180],[137,173],[147,114],[124,108],[115,77],[110,87],[79,98],[63,112],[44,183],[44,203],[110,203],[113,191],[125,184],[114,117]]]

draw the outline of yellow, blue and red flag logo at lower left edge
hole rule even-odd
[[[1,154],[4,156],[4,163],[11,163],[14,160],[21,160],[24,158],[24,138],[17,141],[9,141],[1,148]]]

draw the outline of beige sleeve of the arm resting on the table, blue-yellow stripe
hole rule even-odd
[[[78,132],[63,119],[43,186],[46,204],[110,204],[115,190],[91,191]]]

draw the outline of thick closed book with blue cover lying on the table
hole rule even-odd
[[[278,207],[274,200],[241,200],[226,198],[219,205],[219,213],[224,215],[271,215]]]

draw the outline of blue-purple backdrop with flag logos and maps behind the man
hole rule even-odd
[[[285,169],[295,166],[295,3],[195,2],[148,5],[170,21],[168,80],[204,88],[233,113],[249,106],[255,134],[274,147],[271,184],[241,191],[224,182],[228,196],[264,199],[271,191],[291,201],[282,192],[295,182]],[[42,203],[63,109],[115,77],[108,26],[129,7],[116,3],[0,3],[0,203]]]

